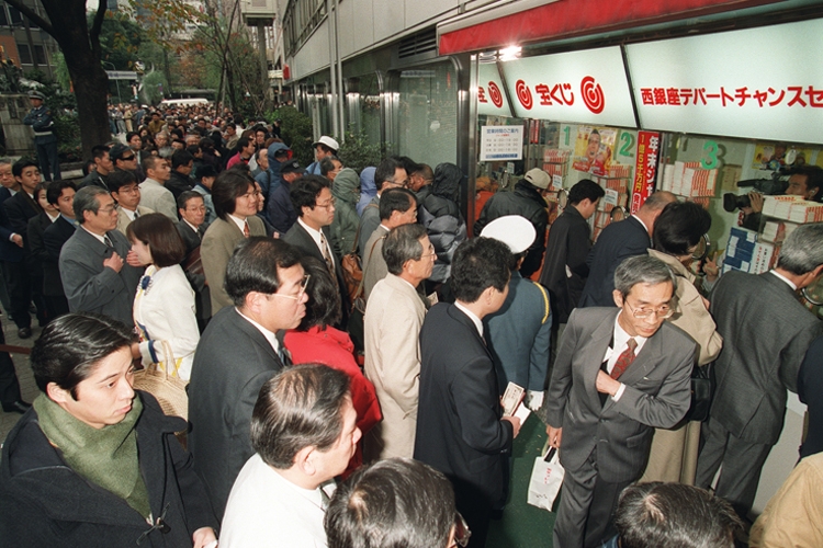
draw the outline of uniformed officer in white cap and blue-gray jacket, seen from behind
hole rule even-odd
[[[503,392],[509,383],[521,386],[528,390],[526,404],[538,410],[549,368],[552,312],[549,292],[518,272],[534,242],[534,227],[525,217],[506,215],[486,225],[480,236],[499,240],[511,251],[509,293],[500,309],[484,318],[498,387]]]

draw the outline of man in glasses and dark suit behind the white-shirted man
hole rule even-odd
[[[308,300],[300,253],[280,240],[243,240],[225,279],[235,306],[208,322],[189,384],[189,449],[221,517],[240,468],[255,454],[249,425],[260,387],[290,364],[275,332],[296,328]]]

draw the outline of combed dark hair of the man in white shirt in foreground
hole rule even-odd
[[[318,364],[296,365],[269,379],[251,414],[251,447],[263,463],[288,469],[304,447],[325,452],[342,432],[349,376]]]

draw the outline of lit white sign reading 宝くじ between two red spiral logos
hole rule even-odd
[[[619,46],[506,61],[515,115],[636,127]]]

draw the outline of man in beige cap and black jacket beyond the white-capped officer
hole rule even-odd
[[[498,192],[483,206],[477,222],[474,224],[474,235],[481,233],[483,228],[504,215],[520,215],[534,226],[537,237],[529,247],[520,274],[529,277],[540,269],[545,251],[545,229],[549,226],[549,214],[545,210],[544,196],[550,192],[549,173],[534,168],[529,170],[523,178],[517,182],[514,192]]]

